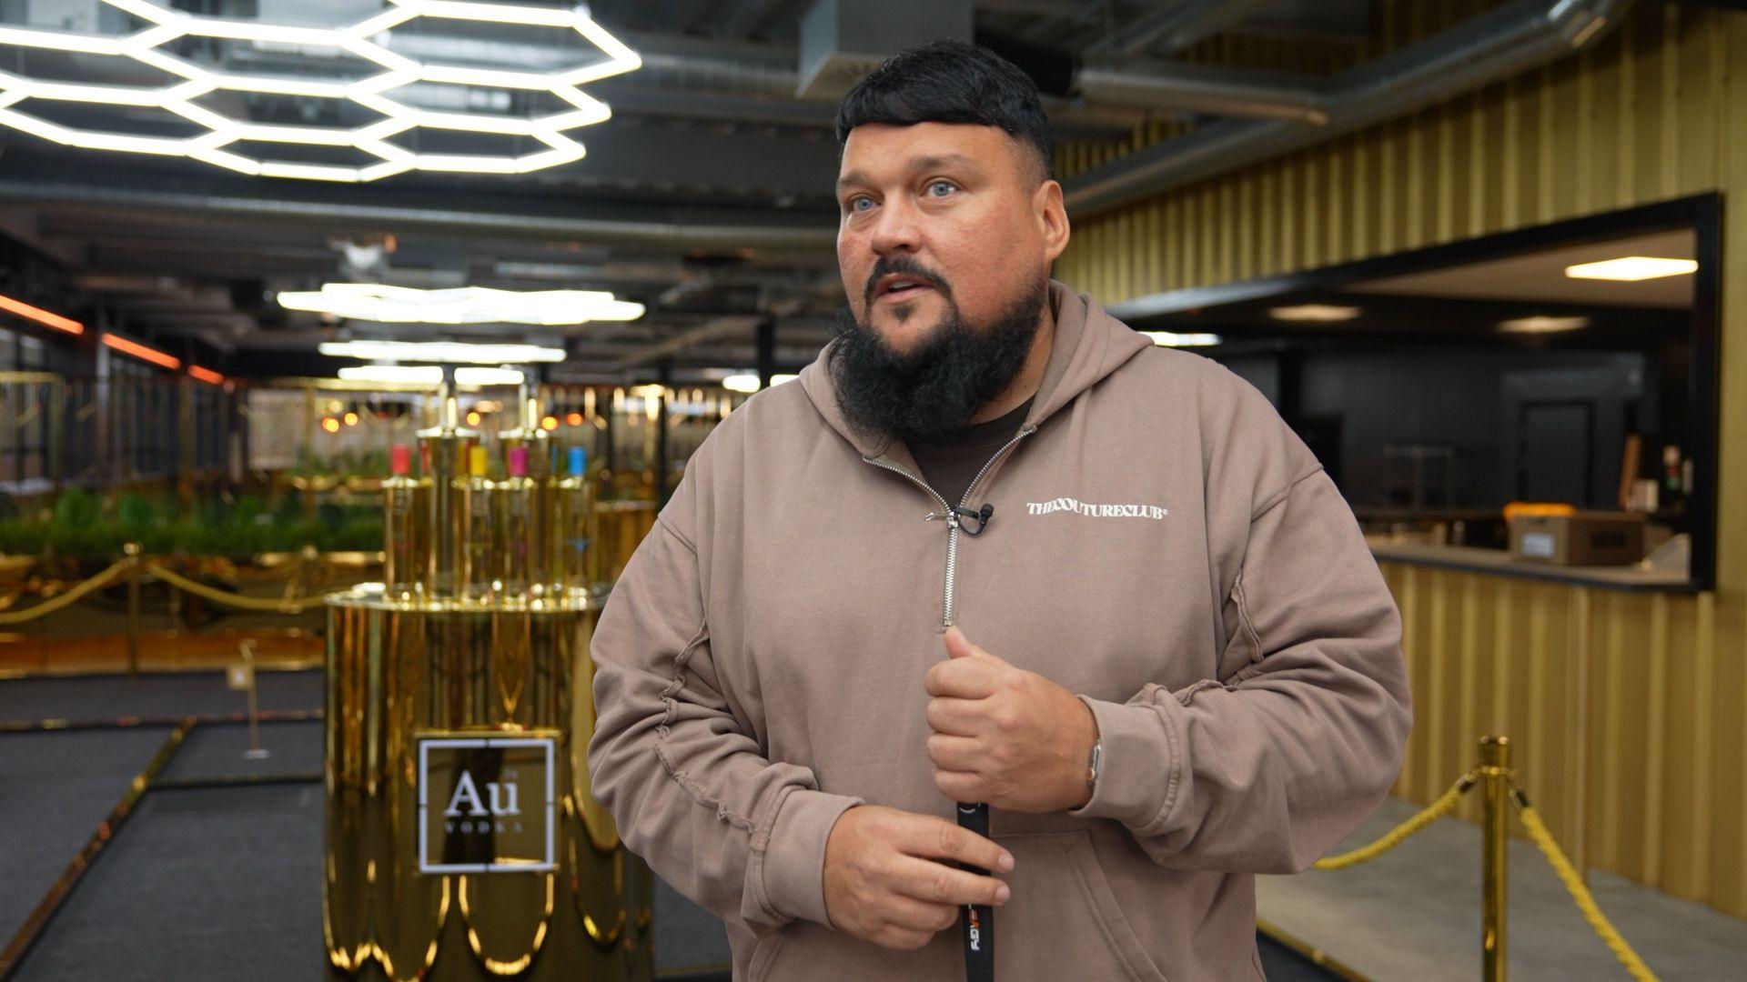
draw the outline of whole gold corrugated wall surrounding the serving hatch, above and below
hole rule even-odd
[[[1494,0],[1385,0],[1378,38],[1219,65],[1336,72]],[[1281,63],[1275,63],[1279,66]],[[1737,66],[1738,65],[1738,66]],[[1064,178],[1167,140],[1064,145]],[[1637,3],[1595,49],[1406,117],[1076,220],[1057,276],[1102,302],[1350,262],[1651,201],[1747,196],[1747,14]],[[1717,591],[1623,594],[1384,564],[1427,802],[1502,732],[1553,832],[1593,865],[1747,917],[1747,206],[1724,210]],[[1478,818],[1476,804],[1462,813]]]

